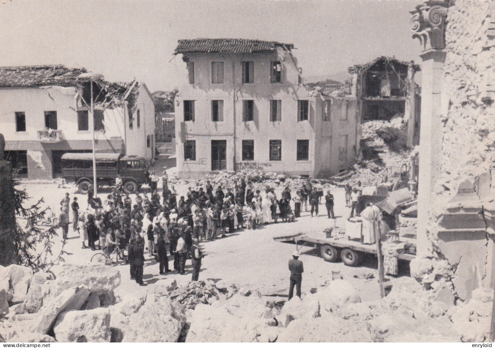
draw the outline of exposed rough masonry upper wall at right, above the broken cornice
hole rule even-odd
[[[462,181],[474,182],[495,161],[495,105],[487,98],[487,84],[495,81],[495,40],[487,35],[494,5],[491,0],[457,0],[448,9],[444,127],[437,139],[442,141],[441,176],[432,193],[433,217],[444,212]]]

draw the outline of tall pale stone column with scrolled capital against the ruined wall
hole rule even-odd
[[[425,1],[411,11],[413,38],[418,38],[421,58],[421,131],[419,152],[417,255],[431,254],[428,240],[431,194],[440,174],[442,146],[441,90],[445,63],[445,24],[448,1]]]

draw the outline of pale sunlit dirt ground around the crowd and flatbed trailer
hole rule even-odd
[[[31,197],[29,203],[43,197],[44,206],[49,206],[59,213],[60,200],[65,192],[70,193],[71,200],[78,197],[82,210],[86,209],[86,196],[76,193],[77,188],[73,184],[61,185],[61,182],[23,182],[21,186],[27,190]],[[187,188],[180,188],[182,191]],[[144,189],[146,190],[146,189]],[[179,191],[179,190],[178,190]],[[334,188],[331,190],[335,196],[335,214],[337,225],[344,224],[344,217],[349,215],[349,208],[345,206],[344,190]],[[99,196],[103,200],[109,192],[100,192]],[[134,195],[132,195],[134,199]],[[258,289],[263,295],[287,296],[289,286],[288,261],[292,258],[292,253],[296,249],[294,244],[281,243],[273,240],[273,236],[287,235],[294,232],[304,232],[308,230],[323,230],[329,226],[329,219],[326,216],[325,205],[320,205],[320,216],[311,217],[309,213],[303,212],[302,216],[292,223],[277,223],[265,225],[255,230],[240,230],[225,238],[201,243],[206,254],[202,262],[199,279],[223,279],[238,286],[248,286],[251,289]],[[71,218],[72,222],[72,218]],[[61,236],[61,230],[58,230]],[[56,239],[54,255],[60,249],[61,240]],[[79,234],[69,229],[69,239],[65,250],[72,255],[65,259],[71,263],[88,263],[96,252],[90,249],[81,248]],[[324,261],[319,253],[319,249],[302,247],[302,255],[299,260],[304,264],[302,281],[302,293],[308,294],[312,288],[318,288],[326,281],[332,280],[332,271],[340,271],[343,278],[355,285],[359,290],[362,301],[372,301],[379,299],[379,286],[377,283],[376,258],[368,258],[359,267],[348,267],[342,262],[330,263]],[[178,284],[185,284],[191,280],[191,261],[186,264],[186,275],[179,275],[175,271],[167,275],[158,275],[158,264],[154,259],[145,255],[144,280],[152,284],[159,279],[175,278]],[[170,267],[173,269],[172,260]],[[403,266],[403,265],[402,265]],[[152,287],[140,287],[129,277],[129,265],[115,266],[121,270],[122,283],[116,289],[116,295],[136,294],[143,296],[147,289]],[[406,267],[404,267],[406,269]],[[369,274],[373,274],[372,279],[366,279]],[[314,290],[313,290],[314,291]]]

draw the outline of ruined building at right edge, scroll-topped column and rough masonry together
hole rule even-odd
[[[423,50],[411,274],[425,287],[446,287],[446,302],[466,302],[495,284],[495,3],[431,0],[411,14]],[[466,331],[479,329],[472,324]]]

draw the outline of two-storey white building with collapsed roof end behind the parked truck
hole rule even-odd
[[[94,119],[84,68],[0,67],[5,157],[19,177],[57,178],[61,156],[92,152],[154,154],[154,104],[142,83],[94,83]]]

